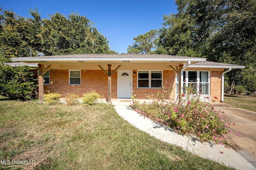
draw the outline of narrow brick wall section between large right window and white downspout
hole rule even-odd
[[[221,100],[221,74],[222,71],[211,71],[210,72],[210,96],[212,100],[220,102]],[[215,99],[217,97],[218,99]]]

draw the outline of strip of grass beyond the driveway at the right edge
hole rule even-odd
[[[242,109],[256,111],[256,97],[246,95],[224,95],[225,103],[233,104]]]

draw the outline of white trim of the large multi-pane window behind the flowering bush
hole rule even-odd
[[[197,92],[200,91],[199,85],[200,85],[200,83],[202,83],[202,82],[200,82],[200,72],[208,72],[208,82],[205,82],[206,84],[209,84],[208,85],[208,94],[200,94],[200,96],[210,96],[210,84],[211,84],[211,82],[210,82],[210,78],[211,78],[210,71],[209,70],[184,70],[184,72],[186,72],[186,77],[184,78],[184,76],[183,76],[183,82],[182,83],[183,84],[186,83],[187,87],[188,87],[188,84],[190,83],[190,82],[188,82],[188,72],[190,72],[190,71],[196,71]],[[176,86],[177,86],[177,84],[179,82],[177,74],[176,74],[176,78],[175,79],[176,79],[175,81],[176,81]],[[186,80],[186,82],[184,82],[184,80]],[[175,88],[175,91],[176,91],[175,94],[178,95],[178,88],[177,87]]]

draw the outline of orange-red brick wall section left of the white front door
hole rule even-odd
[[[68,70],[50,70],[50,85],[44,85],[44,91],[82,94],[96,90],[104,98],[108,98],[108,76],[102,70],[81,70],[81,85],[68,85]],[[112,98],[117,98],[117,72],[111,76]],[[46,92],[47,93],[47,92]]]

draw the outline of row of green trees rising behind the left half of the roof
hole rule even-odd
[[[94,27],[93,22],[78,13],[66,18],[60,13],[41,19],[40,13],[30,10],[31,18],[16,16],[11,10],[0,10],[0,59],[45,55],[106,54],[111,51],[108,40]]]

